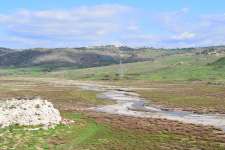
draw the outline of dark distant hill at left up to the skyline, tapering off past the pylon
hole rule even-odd
[[[124,48],[123,48],[124,49]],[[142,57],[135,53],[122,52],[123,63],[149,61],[151,57]],[[55,49],[0,49],[0,67],[60,67],[88,68],[119,63],[119,53],[115,47],[92,48],[55,48]]]

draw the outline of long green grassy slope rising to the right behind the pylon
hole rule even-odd
[[[174,55],[154,62],[124,64],[125,80],[151,81],[224,81],[225,68],[208,65],[218,58],[215,56]],[[53,72],[54,77],[83,80],[118,80],[119,66],[96,67]]]

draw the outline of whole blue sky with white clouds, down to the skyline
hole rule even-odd
[[[225,45],[224,0],[1,0],[0,47]]]

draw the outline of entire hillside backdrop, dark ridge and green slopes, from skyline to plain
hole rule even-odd
[[[120,54],[119,51],[120,50]],[[56,49],[2,49],[0,75],[63,76],[70,79],[154,81],[224,80],[225,47],[155,49],[97,46]],[[46,75],[46,74],[45,74]]]

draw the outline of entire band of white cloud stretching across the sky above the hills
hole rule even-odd
[[[0,45],[74,47],[121,43],[188,47],[225,44],[225,14],[193,15],[188,8],[155,14],[139,11],[123,5],[96,5],[0,14]]]

